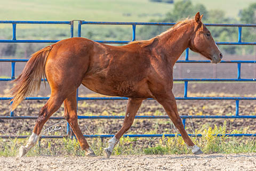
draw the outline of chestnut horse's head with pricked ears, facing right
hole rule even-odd
[[[222,53],[215,44],[211,32],[201,22],[202,16],[200,16],[199,12],[195,15],[195,31],[190,37],[189,48],[211,59],[212,63],[217,64],[221,61]]]

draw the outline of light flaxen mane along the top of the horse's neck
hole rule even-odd
[[[176,24],[174,24],[173,27],[171,27],[170,29],[162,32],[160,35],[158,35],[158,36],[156,36],[154,38],[151,38],[149,40],[131,41],[131,42],[129,42],[129,45],[131,45],[131,44],[138,44],[138,45],[140,45],[142,47],[149,46],[149,45],[151,45],[154,42],[155,39],[157,39],[157,37],[165,35],[165,33],[170,32],[170,31],[172,31],[174,29],[178,29],[178,28],[182,27],[183,25],[191,23],[193,21],[194,21],[193,18],[191,18],[191,19],[189,19],[189,18],[182,19],[182,20],[178,21]]]

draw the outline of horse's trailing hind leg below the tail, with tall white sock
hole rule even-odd
[[[63,97],[58,96],[57,93],[52,93],[51,97],[46,102],[46,104],[41,109],[41,111],[38,115],[36,125],[34,127],[34,131],[33,131],[32,135],[30,136],[28,143],[26,144],[26,146],[20,147],[19,157],[24,156],[28,152],[29,149],[31,149],[33,146],[35,146],[35,144],[38,140],[38,136],[41,133],[43,125],[51,117],[51,115],[60,108],[63,100],[64,100]]]

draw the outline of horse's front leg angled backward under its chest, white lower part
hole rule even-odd
[[[118,143],[118,141],[121,138],[121,136],[127,130],[129,130],[130,127],[132,126],[134,117],[137,114],[137,111],[140,108],[140,105],[141,105],[142,101],[143,101],[143,99],[129,98],[129,101],[128,101],[128,104],[127,104],[126,113],[125,113],[125,118],[124,118],[123,126],[122,126],[121,130],[119,130],[116,133],[116,135],[113,136],[113,138],[111,138],[108,141],[108,143],[109,143],[108,148],[105,148],[105,152],[106,152],[107,158],[110,157],[110,155],[111,155],[115,145]]]

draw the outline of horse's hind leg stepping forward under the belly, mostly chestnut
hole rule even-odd
[[[71,93],[71,95],[69,95],[68,98],[64,100],[64,106],[65,106],[64,117],[66,118],[72,130],[74,131],[76,138],[80,143],[81,148],[88,152],[87,156],[95,156],[95,153],[89,147],[89,144],[85,140],[84,135],[77,123],[76,91]]]

